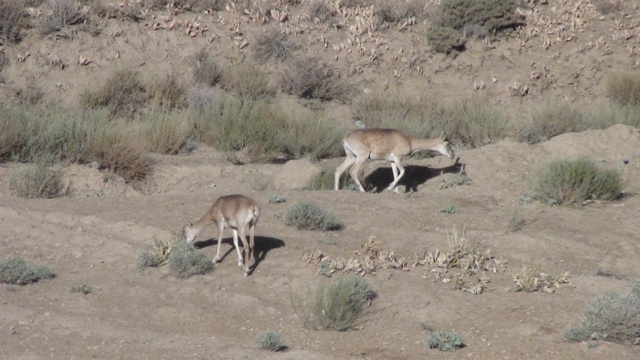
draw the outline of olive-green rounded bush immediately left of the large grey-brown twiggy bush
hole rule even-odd
[[[258,100],[275,95],[266,73],[251,64],[239,64],[222,77],[221,87],[241,98]]]

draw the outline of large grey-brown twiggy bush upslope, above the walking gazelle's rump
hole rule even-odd
[[[303,99],[348,101],[353,88],[319,57],[293,59],[280,78],[282,90]]]

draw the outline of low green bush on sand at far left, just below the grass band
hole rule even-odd
[[[65,190],[61,173],[43,162],[28,165],[13,174],[9,186],[16,196],[27,199],[52,199],[64,196]]]

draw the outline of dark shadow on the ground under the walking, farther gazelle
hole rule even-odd
[[[405,173],[398,182],[398,186],[404,186],[405,192],[418,191],[418,186],[426,183],[429,179],[441,174],[459,173],[464,170],[464,164],[460,163],[460,158],[442,168],[431,168],[423,165],[406,165]],[[393,172],[390,166],[379,167],[367,175],[364,179],[367,190],[374,190],[376,193],[383,192],[393,182]]]

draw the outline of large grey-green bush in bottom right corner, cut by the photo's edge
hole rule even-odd
[[[640,281],[627,295],[606,293],[583,310],[580,324],[565,333],[569,341],[606,340],[640,344]]]

